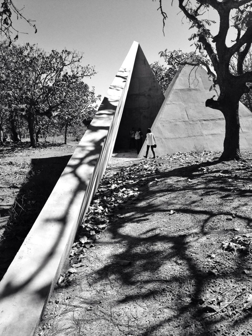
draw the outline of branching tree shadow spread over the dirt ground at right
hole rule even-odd
[[[235,218],[242,226],[241,231],[246,228],[251,229],[252,217],[249,211],[248,213],[244,211],[244,207],[252,196],[251,190],[246,189],[246,183],[251,183],[252,180],[252,169],[248,164],[243,169],[230,168],[230,172],[228,172],[224,171],[224,168],[215,169],[217,164],[220,162],[204,162],[199,165],[189,165],[153,174],[153,181],[167,180],[166,186],[161,187],[159,182],[155,182],[153,186],[145,185],[142,188],[141,198],[135,201],[133,208],[125,207],[119,211],[120,215],[124,215],[125,218],[120,218],[120,222],[107,228],[107,232],[111,235],[109,245],[118,244],[123,248],[113,254],[110,264],[100,267],[96,271],[97,277],[93,278],[92,272],[86,275],[92,279],[90,286],[95,287],[106,279],[114,277],[113,279],[125,291],[130,286],[137,287],[137,290],[132,290],[132,293],[129,290],[127,294],[122,290],[122,297],[119,299],[113,300],[112,298],[110,309],[117,313],[120,309],[122,310],[122,303],[133,306],[136,302],[141,302],[149,318],[149,323],[145,321],[144,325],[144,323],[141,324],[141,320],[144,320],[141,316],[139,319],[132,317],[131,320],[127,320],[120,315],[120,319],[116,320],[117,325],[122,329],[118,327],[119,335],[125,334],[127,329],[125,326],[128,326],[131,328],[132,335],[139,336],[164,335],[168,330],[165,328],[169,328],[170,334],[214,336],[218,332],[216,330],[219,325],[226,323],[226,320],[228,320],[228,324],[231,323],[228,330],[233,330],[232,328],[242,328],[243,323],[250,319],[251,312],[249,310],[243,311],[241,308],[236,312],[237,320],[235,320],[234,314],[232,314],[233,305],[230,305],[231,310],[223,309],[220,313],[215,313],[222,307],[222,302],[218,306],[216,300],[213,308],[206,296],[208,289],[215,288],[216,290],[216,286],[219,286],[219,281],[221,281],[225,290],[219,288],[219,291],[226,291],[227,302],[225,303],[228,303],[236,293],[236,287],[233,288],[232,284],[237,282],[239,287],[243,270],[251,268],[249,255],[223,254],[220,241],[212,240],[215,237],[214,231],[218,231],[219,236],[232,235],[232,228],[229,225],[232,221],[224,219],[232,215],[232,211],[230,211],[232,206],[223,204],[223,201],[228,198],[225,197],[227,193],[240,200]],[[225,163],[222,165],[225,167]],[[205,170],[210,166],[213,166],[212,170]],[[203,171],[201,171],[202,168],[204,168]],[[176,184],[174,181],[169,182],[169,178],[172,177],[177,177]],[[188,181],[188,178],[191,181]],[[196,206],[195,201],[191,201],[190,198],[182,198],[180,202],[176,203],[178,194],[181,192],[183,195],[197,193],[203,198],[204,195],[210,194],[215,203],[206,206],[207,209],[203,209],[200,204]],[[173,198],[167,200],[163,197],[164,195],[173,195]],[[142,199],[146,200],[145,205]],[[216,205],[219,205],[219,208],[213,210],[213,206]],[[221,210],[221,207],[224,209]],[[187,216],[186,220],[192,216],[192,223],[188,225],[188,229],[184,227],[181,230],[182,224],[179,222],[179,218],[176,219],[178,225],[172,226],[171,222],[176,222],[176,220],[175,216],[169,215],[171,209],[178,217],[180,214]],[[160,215],[158,219],[157,213]],[[152,215],[154,216],[152,221],[156,221],[156,223],[146,226],[146,219],[150,219]],[[194,216],[199,217],[195,223],[192,220]],[[207,227],[217,217],[221,217],[224,224],[215,228],[213,226]],[[213,223],[211,222],[211,224]],[[137,227],[143,225],[146,226],[146,229],[138,230]],[[228,225],[229,229],[226,229],[225,227]],[[130,226],[130,234],[126,233],[128,232],[126,226]],[[210,259],[210,256],[207,257],[209,253],[212,253],[210,250],[212,242],[212,250],[216,250],[216,255],[220,255],[220,258],[223,257],[217,264]],[[116,265],[115,260],[130,260],[132,263],[128,266],[120,266]],[[172,262],[173,268],[169,268],[169,262]],[[183,270],[180,265],[183,266]],[[216,274],[209,272],[209,270],[216,268],[218,269]],[[248,285],[250,278],[244,277],[244,281]],[[191,285],[187,286],[187,283]],[[186,286],[188,287],[186,290],[181,290]],[[232,290],[227,292],[228,289]],[[210,294],[217,297],[214,292]],[[239,303],[241,306],[244,295],[246,296],[246,293],[239,292],[237,300],[240,301],[237,301],[236,304]],[[88,304],[88,299],[85,302]],[[99,310],[99,308],[97,309]]]

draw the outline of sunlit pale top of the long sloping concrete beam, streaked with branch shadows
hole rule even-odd
[[[115,114],[119,104],[123,108],[122,95],[127,94],[126,79],[130,80],[137,48],[138,43],[134,42],[95,118],[0,282],[0,335],[34,333],[92,199],[98,182],[94,174],[100,176],[106,168],[104,162],[110,154],[103,149],[106,145],[114,146],[119,126],[118,121],[117,129],[113,125]]]

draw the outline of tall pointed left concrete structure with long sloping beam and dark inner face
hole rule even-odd
[[[164,95],[139,44],[133,42],[95,117],[0,282],[0,335],[34,334],[116,139],[120,148],[124,143],[128,146],[132,126],[152,125],[163,101]]]

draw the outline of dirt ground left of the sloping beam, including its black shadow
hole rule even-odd
[[[38,150],[29,142],[0,147],[0,280],[77,144],[41,143]]]

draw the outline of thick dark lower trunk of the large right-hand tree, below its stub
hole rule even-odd
[[[228,104],[222,111],[225,118],[225,139],[224,150],[220,160],[240,160],[240,121],[239,121],[239,103]]]

